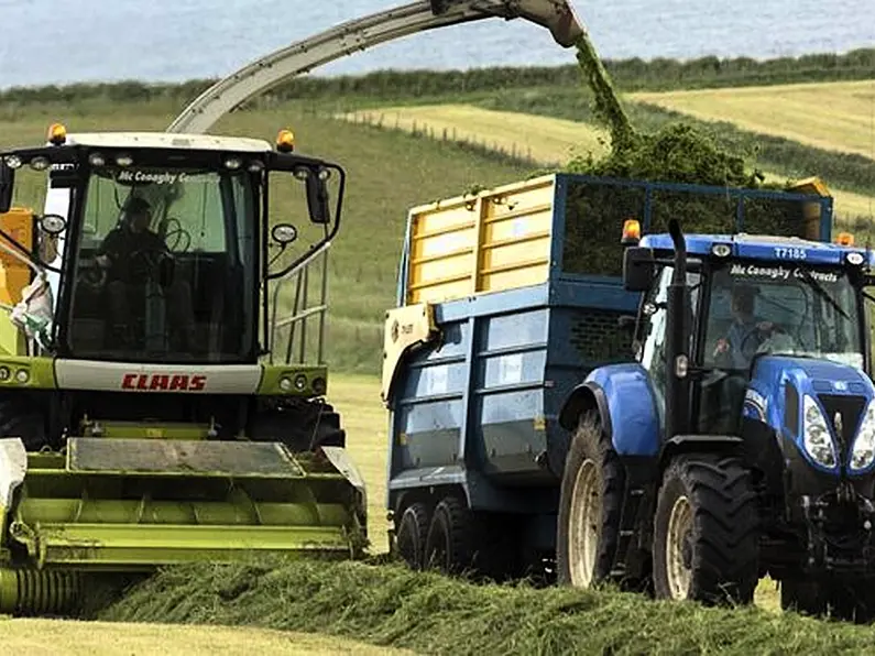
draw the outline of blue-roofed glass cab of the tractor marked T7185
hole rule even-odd
[[[812,370],[846,365],[850,378],[869,373],[864,288],[873,259],[852,247],[852,236],[841,234],[836,244],[747,234],[688,234],[683,241],[685,277],[676,281],[671,236],[626,240],[626,288],[644,292],[637,358],[652,374],[663,418],[672,382],[687,401],[669,400],[683,416],[674,413],[667,428],[677,423],[683,431],[737,435],[743,416],[764,420],[764,395],[752,376],[767,356]],[[685,309],[670,317],[675,282],[683,283],[678,307]],[[819,375],[828,375],[823,365]]]

